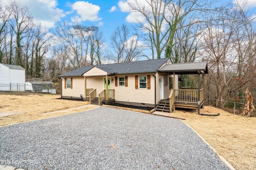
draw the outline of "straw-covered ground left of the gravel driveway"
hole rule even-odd
[[[52,114],[44,114],[51,111],[68,109],[71,107],[78,107],[88,105],[89,102],[73,101],[73,100],[59,100],[60,95],[54,94],[37,94],[37,93],[1,93],[0,94],[0,113],[6,111],[23,112],[7,117],[0,117],[0,126],[20,123],[25,121],[32,121],[38,119],[45,119],[49,117],[56,117],[70,113],[77,113],[92,109],[96,106],[88,106],[80,109],[73,109],[69,111],[62,111]]]

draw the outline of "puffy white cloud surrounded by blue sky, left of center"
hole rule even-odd
[[[72,21],[99,21],[102,18],[98,17],[100,7],[89,2],[77,1],[72,4],[72,9],[76,11],[78,16],[72,18]]]

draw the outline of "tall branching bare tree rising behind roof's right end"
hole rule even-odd
[[[136,20],[139,30],[144,31],[144,39],[156,58],[160,59],[162,51],[168,45],[166,56],[172,54],[174,34],[183,26],[197,23],[197,20],[185,23],[182,27],[178,24],[185,16],[194,16],[197,11],[204,10],[203,7],[208,4],[205,0],[127,0],[131,12],[141,14]]]

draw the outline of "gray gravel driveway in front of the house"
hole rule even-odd
[[[229,169],[179,119],[103,106],[0,127],[0,161],[28,170]]]

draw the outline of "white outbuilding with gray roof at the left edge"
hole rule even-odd
[[[25,69],[0,63],[0,91],[25,91]]]

